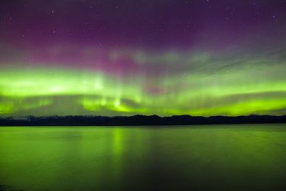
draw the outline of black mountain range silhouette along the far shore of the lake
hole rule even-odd
[[[49,117],[2,117],[0,126],[131,126],[131,125],[215,125],[286,123],[286,115],[248,115],[237,117],[212,116],[193,117],[190,115],[133,115],[130,117],[106,116],[49,116]]]

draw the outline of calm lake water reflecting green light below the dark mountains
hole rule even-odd
[[[0,127],[0,190],[285,190],[286,124]]]

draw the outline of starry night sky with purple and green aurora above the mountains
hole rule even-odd
[[[0,116],[286,115],[286,1],[0,1]]]

